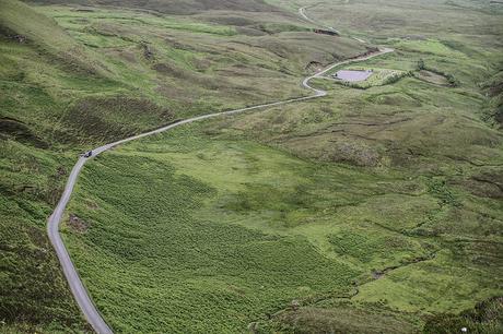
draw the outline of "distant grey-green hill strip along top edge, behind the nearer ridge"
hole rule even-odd
[[[191,14],[208,10],[268,12],[277,8],[262,0],[35,0],[36,3],[77,3],[82,5],[115,5],[141,8],[172,14]]]

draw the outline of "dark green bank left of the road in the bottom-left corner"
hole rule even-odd
[[[0,332],[86,329],[45,232],[72,159],[0,142]]]

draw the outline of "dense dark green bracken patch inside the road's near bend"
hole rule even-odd
[[[69,208],[90,226],[84,234],[67,228],[66,239],[84,281],[93,282],[90,289],[112,326],[119,332],[238,332],[292,298],[308,298],[313,291],[343,293],[359,272],[343,262],[326,259],[305,237],[281,236],[225,222],[253,218],[247,217],[245,207],[254,203],[241,201],[252,202],[248,196],[254,198],[255,191],[262,195],[272,187],[254,179],[279,182],[265,178],[269,171],[261,168],[264,164],[296,164],[306,169],[284,170],[282,180],[289,176],[294,179],[265,200],[289,196],[291,187],[300,187],[303,175],[312,167],[247,142],[217,142],[207,152],[207,140],[197,138],[196,131],[186,136],[187,131],[190,130],[176,131],[167,142],[133,144],[97,158],[82,177]],[[163,150],[165,144],[172,148]],[[145,151],[138,152],[142,146]],[[220,172],[208,170],[213,160],[211,152],[225,154],[230,163],[219,164],[220,167],[235,170],[233,177],[227,175],[227,182]],[[192,165],[192,170],[176,168],[187,160],[203,164]],[[200,176],[192,177],[200,170],[207,170],[204,181]],[[131,178],[138,182],[127,181]],[[246,183],[242,184],[245,179],[250,191]],[[145,184],[145,180],[151,181]],[[235,195],[217,188],[226,183],[226,189],[237,191]],[[98,192],[102,193],[97,196]],[[117,198],[119,193],[130,194],[130,201]],[[204,204],[207,201],[212,204]],[[271,205],[283,205],[284,213],[289,213],[290,207],[299,207],[297,199],[291,201]],[[236,206],[243,208],[234,213]],[[264,211],[264,215],[268,211],[276,213],[274,208]],[[224,212],[230,216],[222,220]],[[270,228],[284,229],[283,224],[278,216]],[[109,237],[110,231],[115,237]],[[311,272],[307,277],[306,269]],[[140,315],[130,312],[131,308]]]

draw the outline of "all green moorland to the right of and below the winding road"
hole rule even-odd
[[[452,35],[396,38],[381,22],[397,52],[362,65],[409,71],[422,59],[457,87],[324,83],[332,94],[320,102],[190,126],[93,162],[69,210],[90,229],[66,238],[113,325],[498,331],[498,306],[489,320],[455,314],[502,294],[503,138],[479,84],[500,65],[499,16],[466,10],[489,22],[476,38],[440,8],[423,11],[440,12]],[[414,20],[407,33],[429,24]],[[131,301],[145,314],[130,314]]]

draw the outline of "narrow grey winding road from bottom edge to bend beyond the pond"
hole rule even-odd
[[[393,49],[385,48],[385,49],[382,49],[382,50],[379,50],[377,52],[374,52],[374,53],[371,53],[371,55],[367,55],[367,56],[364,56],[364,57],[359,57],[359,58],[354,58],[354,59],[350,59],[350,60],[340,61],[340,62],[334,63],[332,65],[326,68],[323,71],[317,72],[314,75],[307,76],[302,82],[302,85],[304,87],[306,87],[306,88],[308,88],[308,90],[314,92],[314,95],[312,95],[312,96],[291,98],[291,99],[276,102],[276,103],[262,104],[262,105],[257,105],[257,106],[253,106],[253,107],[246,107],[246,108],[241,108],[241,109],[235,109],[235,110],[229,110],[229,111],[202,115],[202,116],[185,119],[185,120],[178,121],[176,123],[172,123],[169,126],[166,126],[166,127],[153,130],[153,131],[149,131],[149,132],[141,133],[141,134],[138,134],[138,135],[133,135],[133,136],[130,136],[130,138],[127,138],[127,139],[114,142],[114,143],[109,143],[109,144],[96,147],[96,148],[93,150],[93,157],[98,155],[98,154],[101,154],[101,153],[103,153],[103,152],[105,152],[105,151],[107,151],[107,150],[109,150],[109,148],[112,148],[112,147],[114,147],[114,146],[117,146],[119,144],[124,144],[124,143],[127,143],[127,142],[130,142],[130,141],[133,141],[133,140],[137,140],[137,139],[141,139],[141,138],[144,138],[144,136],[148,136],[148,135],[152,135],[152,134],[155,134],[155,133],[161,133],[161,132],[167,131],[169,129],[173,129],[173,128],[186,124],[186,123],[191,123],[191,122],[195,122],[195,121],[199,121],[199,120],[203,120],[203,119],[212,118],[212,117],[218,117],[218,116],[234,115],[234,114],[239,114],[239,112],[244,112],[244,111],[248,111],[248,110],[262,109],[262,108],[268,108],[268,107],[276,107],[276,106],[281,106],[281,105],[285,105],[285,104],[290,104],[290,103],[303,102],[303,100],[308,100],[308,99],[325,96],[325,95],[327,95],[327,92],[323,91],[323,90],[317,90],[317,88],[311,86],[309,85],[311,80],[313,80],[315,77],[318,77],[318,76],[321,76],[323,74],[325,74],[326,72],[330,71],[335,67],[338,67],[338,65],[341,65],[341,64],[344,64],[344,63],[367,60],[370,58],[381,56],[381,55],[391,52],[391,51],[393,51]],[[48,225],[47,225],[47,232],[48,232],[48,236],[49,236],[49,240],[52,243],[54,249],[56,250],[56,254],[57,254],[57,257],[59,259],[59,262],[61,263],[62,271],[63,271],[65,276],[66,276],[67,281],[68,281],[68,284],[70,285],[70,289],[71,289],[71,291],[73,294],[73,297],[75,298],[75,300],[77,300],[82,313],[84,314],[85,319],[92,325],[92,327],[94,329],[94,331],[96,333],[98,333],[98,334],[109,334],[109,333],[113,333],[112,329],[103,320],[103,317],[100,314],[100,312],[96,309],[95,305],[93,303],[91,297],[89,296],[87,290],[85,289],[84,285],[82,284],[82,281],[80,279],[80,276],[79,276],[79,274],[78,274],[78,272],[75,270],[75,266],[73,265],[73,262],[71,261],[70,255],[68,253],[68,250],[66,249],[65,243],[63,243],[63,241],[61,239],[61,236],[59,234],[59,224],[60,224],[60,222],[62,219],[65,208],[67,207],[67,204],[68,204],[68,202],[70,200],[71,193],[73,191],[73,187],[75,186],[75,182],[77,182],[77,178],[78,178],[82,167],[84,166],[84,164],[85,164],[85,162],[87,159],[89,158],[80,157],[79,160],[77,162],[77,164],[73,166],[72,171],[70,174],[70,177],[69,177],[69,179],[67,181],[67,184],[65,187],[65,191],[63,191],[63,193],[61,195],[61,199],[59,200],[59,203],[56,206],[54,213],[49,216]]]

